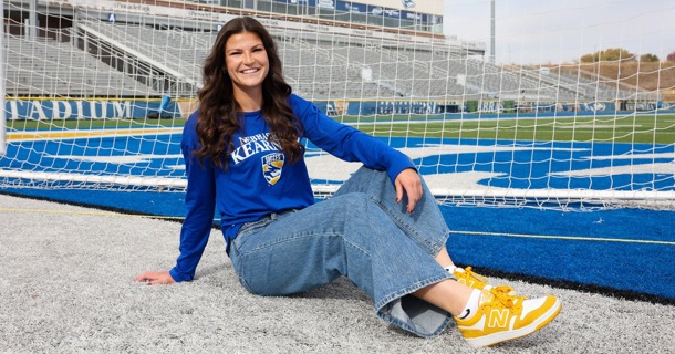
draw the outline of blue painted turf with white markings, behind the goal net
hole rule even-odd
[[[0,168],[180,178],[183,162],[179,140],[179,134],[164,134],[10,143],[6,157],[0,159]],[[455,139],[435,138],[392,138],[388,143],[394,147],[408,146],[423,150],[434,150],[433,147],[439,144],[458,145]],[[495,176],[476,183],[491,187],[675,190],[675,176],[667,173],[668,168],[654,168],[672,166],[675,160],[673,146],[599,143],[518,145],[513,142],[471,139],[463,139],[460,145],[497,148],[445,155],[424,154],[415,163],[420,166],[423,175],[490,173]],[[23,167],[27,165],[30,167]],[[622,169],[624,167],[626,169]],[[574,175],[574,171],[582,173]]]

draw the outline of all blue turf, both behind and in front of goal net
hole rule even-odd
[[[179,134],[129,135],[102,138],[10,142],[0,171],[135,175],[181,178]],[[673,164],[666,147],[583,143],[515,145],[512,142],[461,140],[465,147],[490,147],[432,154],[438,145],[457,140],[394,138],[408,146],[423,175],[482,171],[479,186],[510,188],[584,188],[674,190]],[[311,163],[311,155],[308,164]],[[515,163],[513,163],[515,162]],[[630,167],[632,174],[623,167]],[[611,169],[610,169],[611,168]],[[608,173],[608,170],[613,173]],[[667,171],[667,169],[665,169]],[[574,171],[582,171],[575,175]],[[598,171],[593,174],[593,171]],[[590,176],[590,177],[589,177]],[[339,181],[339,180],[338,180]],[[59,187],[59,186],[53,186]],[[6,192],[43,197],[169,217],[183,217],[184,194],[156,190],[105,191],[18,189]],[[444,206],[454,235],[448,246],[458,263],[472,264],[554,282],[581,284],[675,299],[675,212],[642,209],[561,211],[512,207]],[[582,288],[583,288],[582,287]]]

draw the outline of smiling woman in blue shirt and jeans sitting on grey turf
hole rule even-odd
[[[170,271],[137,281],[193,280],[217,207],[232,267],[258,295],[305,292],[345,275],[381,319],[434,336],[455,317],[474,346],[530,334],[558,315],[554,296],[527,300],[455,267],[448,227],[411,159],[292,94],[273,40],[255,19],[222,28],[199,102],[181,143],[180,256]],[[364,166],[314,204],[303,139]]]

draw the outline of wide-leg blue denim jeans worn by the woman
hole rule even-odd
[[[438,335],[451,315],[411,293],[449,278],[434,259],[449,230],[426,185],[414,212],[406,205],[396,202],[385,173],[362,167],[330,199],[242,226],[232,266],[259,295],[304,292],[345,275],[374,300],[381,319]]]

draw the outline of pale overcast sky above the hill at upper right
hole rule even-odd
[[[444,33],[485,42],[490,55],[490,0],[443,0]],[[578,62],[622,48],[665,61],[675,52],[674,0],[495,0],[495,62]]]

